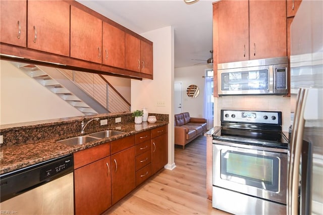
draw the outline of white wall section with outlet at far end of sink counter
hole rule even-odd
[[[169,114],[168,125],[168,165],[174,162],[174,28],[171,26],[141,34],[153,42],[153,80],[131,80],[132,111],[148,108],[149,113]],[[164,101],[165,106],[157,106]]]

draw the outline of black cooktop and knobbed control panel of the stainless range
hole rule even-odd
[[[288,148],[282,113],[221,110],[221,128],[213,139],[273,148]]]

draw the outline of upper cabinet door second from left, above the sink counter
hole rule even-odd
[[[63,1],[28,1],[28,48],[70,55],[70,5]]]

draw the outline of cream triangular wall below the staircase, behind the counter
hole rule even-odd
[[[0,61],[0,124],[82,116],[8,61]]]

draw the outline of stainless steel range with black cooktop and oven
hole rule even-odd
[[[286,214],[287,153],[281,112],[221,110],[213,134],[212,206]]]

